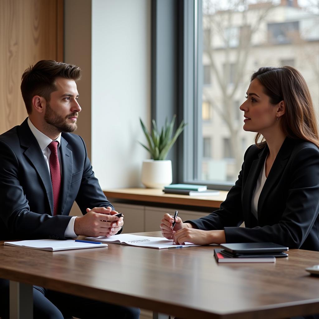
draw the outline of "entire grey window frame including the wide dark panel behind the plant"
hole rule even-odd
[[[211,183],[201,176],[202,136],[202,0],[152,0],[151,118],[160,127],[177,114],[176,125],[187,123],[168,153],[173,183],[204,184],[209,189],[229,190],[234,182]],[[196,45],[195,45],[196,44]],[[200,107],[198,107],[200,106]],[[152,123],[149,123],[151,126]],[[195,154],[195,155],[194,155]]]

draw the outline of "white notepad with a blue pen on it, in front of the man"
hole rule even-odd
[[[101,248],[107,247],[107,244],[90,244],[85,242],[77,242],[71,239],[39,239],[39,240],[23,240],[23,241],[5,241],[4,245],[23,247],[30,249],[40,249],[49,251],[84,249],[84,248]]]

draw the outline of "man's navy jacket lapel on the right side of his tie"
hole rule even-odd
[[[73,169],[73,156],[72,151],[67,148],[68,142],[61,136],[61,166],[62,166],[62,192],[61,192],[61,215],[63,215],[63,210],[68,199],[72,169]]]

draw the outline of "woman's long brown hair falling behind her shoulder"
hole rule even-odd
[[[262,67],[251,76],[250,81],[255,78],[263,85],[264,93],[269,96],[271,104],[276,105],[282,100],[285,102],[286,112],[280,118],[284,134],[306,140],[319,147],[314,106],[308,85],[299,71],[291,66]],[[266,143],[263,136],[258,143],[261,136],[257,133],[255,137],[255,144],[259,148]]]

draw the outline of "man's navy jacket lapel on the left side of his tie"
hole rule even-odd
[[[42,150],[29,128],[27,119],[19,126],[18,135],[20,139],[20,146],[26,149],[24,155],[29,159],[30,164],[35,168],[43,183],[43,186],[46,190],[46,194],[44,196],[49,202],[51,209],[50,213],[53,216],[53,191],[51,176]],[[37,194],[34,194],[34,196],[37,196]]]

